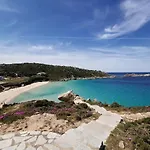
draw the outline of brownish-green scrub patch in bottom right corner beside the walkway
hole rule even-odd
[[[123,143],[124,149],[149,150],[150,118],[120,123],[109,136],[106,142],[106,150],[120,150],[120,142]]]

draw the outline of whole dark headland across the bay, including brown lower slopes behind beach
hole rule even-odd
[[[0,91],[42,81],[68,81],[110,77],[107,73],[70,66],[39,63],[0,64]]]

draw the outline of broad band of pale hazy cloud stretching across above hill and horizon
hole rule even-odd
[[[52,45],[1,45],[0,63],[39,62],[103,71],[150,71],[149,47],[51,50]],[[49,50],[44,50],[48,48]],[[13,53],[13,55],[12,55]]]

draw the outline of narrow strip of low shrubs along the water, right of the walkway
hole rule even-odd
[[[142,113],[150,112],[150,106],[139,106],[139,107],[124,107],[117,102],[112,104],[102,103],[96,100],[85,100],[85,102],[91,105],[98,105],[100,107],[105,107],[107,110],[116,111],[116,112],[131,112],[131,113]]]

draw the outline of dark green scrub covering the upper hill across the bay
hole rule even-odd
[[[63,78],[103,77],[105,73],[96,70],[86,70],[76,67],[53,66],[38,63],[1,64],[0,76],[5,77],[31,77],[39,72],[45,72],[50,80]]]

